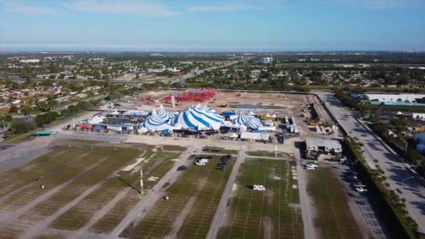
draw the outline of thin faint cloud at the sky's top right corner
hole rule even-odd
[[[406,8],[424,6],[424,0],[336,0],[338,3],[366,6],[370,8]]]

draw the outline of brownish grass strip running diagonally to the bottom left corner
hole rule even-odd
[[[1,203],[3,208],[7,208],[6,210],[10,212],[10,210],[16,209],[17,206],[23,206],[34,199],[35,197],[31,192],[40,196],[46,190],[52,189],[64,182],[69,182],[66,187],[63,187],[49,198],[41,201],[41,203],[36,204],[33,208],[20,215],[20,217],[17,217],[17,219],[11,220],[8,224],[2,226],[0,229],[0,238],[19,236],[32,225],[43,221],[43,219],[53,215],[59,208],[78,198],[87,189],[101,185],[102,180],[113,176],[115,171],[129,164],[140,153],[136,148],[130,147],[117,148],[117,150],[114,147],[95,147],[93,150],[85,147],[85,149],[89,152],[88,154],[82,154],[82,157],[74,155],[75,160],[71,159],[71,164],[64,164],[64,166],[59,168],[57,173],[45,175],[45,189],[40,189],[39,184],[34,184],[29,189],[25,189],[23,194],[13,194]],[[75,150],[80,152],[79,147],[75,147]],[[82,174],[78,178],[75,178],[78,173]],[[34,175],[34,178],[38,177],[38,175]]]

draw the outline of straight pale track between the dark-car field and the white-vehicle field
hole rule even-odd
[[[229,179],[227,180],[226,187],[224,187],[222,198],[220,199],[217,210],[215,210],[214,217],[212,217],[212,222],[210,224],[210,231],[208,231],[208,235],[206,236],[207,239],[217,238],[217,233],[218,233],[219,227],[222,226],[222,222],[223,222],[222,219],[224,217],[224,212],[226,211],[227,202],[229,201],[229,197],[233,189],[233,184],[236,181],[236,176],[238,175],[240,164],[242,164],[243,161],[245,161],[245,157],[246,157],[245,150],[247,150],[247,147],[245,147],[245,145],[243,147],[240,147],[238,158],[236,158],[236,164],[233,166],[231,170]]]

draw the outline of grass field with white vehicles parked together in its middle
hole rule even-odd
[[[303,238],[297,184],[287,161],[246,159],[217,238]],[[266,191],[252,190],[262,184]]]

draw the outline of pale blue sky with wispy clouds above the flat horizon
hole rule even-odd
[[[0,50],[425,50],[425,0],[0,0]]]

